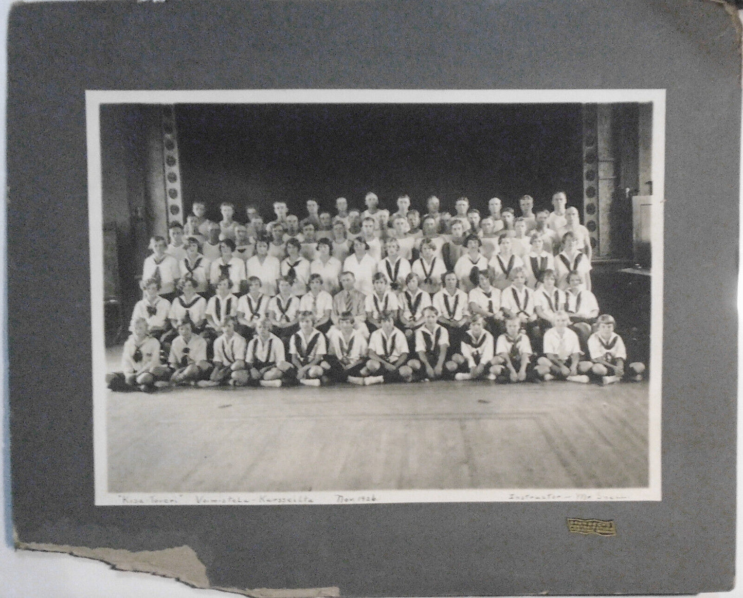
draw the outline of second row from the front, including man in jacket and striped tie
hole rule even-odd
[[[456,342],[466,331],[472,315],[482,316],[485,328],[495,337],[504,331],[506,319],[516,317],[536,348],[541,347],[544,331],[554,325],[554,314],[563,310],[568,313],[570,325],[585,347],[599,306],[594,294],[583,287],[580,273],[568,276],[570,284],[565,291],[555,285],[557,276],[553,270],[545,271],[536,290],[526,286],[526,273],[521,267],[511,270],[510,285],[504,290],[493,287],[487,270],[473,268],[468,276],[470,282],[476,284],[469,293],[458,288],[456,273],[446,272],[441,275],[441,290],[430,295],[421,289],[417,273],[408,273],[403,290],[397,292],[389,287],[387,276],[376,273],[373,290],[365,295],[356,288],[354,273],[346,271],[340,276],[341,290],[331,296],[323,288],[322,276],[312,274],[309,291],[301,298],[293,294],[293,279],[289,276],[279,279],[276,296],[262,293],[262,281],[251,277],[249,292],[239,297],[231,292],[231,281],[224,276],[218,281],[217,293],[208,301],[196,293],[194,279],[185,276],[182,293],[172,304],[158,295],[158,280],[149,279],[145,283],[144,298],[134,306],[130,330],[134,331],[137,318],[146,319],[150,334],[158,337],[166,351],[177,334],[178,323],[188,316],[193,331],[210,343],[211,355],[211,343],[218,337],[228,316],[236,318],[238,333],[248,340],[255,334],[256,321],[266,318],[272,333],[288,347],[291,335],[299,327],[302,311],[313,314],[315,325],[322,333],[327,333],[331,327],[337,328],[342,313],[351,313],[354,328],[364,338],[381,327],[381,314],[390,312],[395,325],[412,342],[415,331],[424,324],[424,309],[432,305],[439,314],[438,323],[447,328]]]

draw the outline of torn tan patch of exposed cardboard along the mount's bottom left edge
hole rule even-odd
[[[118,571],[136,571],[153,573],[162,577],[175,579],[193,588],[221,590],[244,594],[253,598],[334,598],[340,597],[340,589],[331,588],[212,588],[207,577],[207,568],[198,559],[189,546],[165,548],[163,550],[121,550],[114,548],[88,548],[85,546],[68,546],[40,544],[36,542],[16,542],[20,550],[39,550],[43,552],[65,553],[94,559],[111,565]]]

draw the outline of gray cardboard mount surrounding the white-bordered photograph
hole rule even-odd
[[[679,0],[17,4],[7,98],[16,545],[299,596],[730,589],[738,27],[724,4]],[[666,89],[662,501],[94,506],[85,90],[253,88]],[[570,534],[566,517],[611,519],[620,533]]]

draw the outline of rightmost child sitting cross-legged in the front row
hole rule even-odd
[[[639,382],[643,379],[645,365],[635,362],[624,369],[627,351],[622,337],[614,332],[614,317],[602,313],[597,320],[598,330],[588,337],[588,356],[591,357],[591,370],[588,372],[599,377],[602,384],[619,382],[625,374],[629,380]]]

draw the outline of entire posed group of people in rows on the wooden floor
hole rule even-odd
[[[419,380],[640,380],[614,318],[591,292],[591,238],[557,192],[552,209],[435,196],[421,217],[254,204],[221,221],[195,201],[169,239],[152,237],[113,390],[174,385],[369,385]]]

